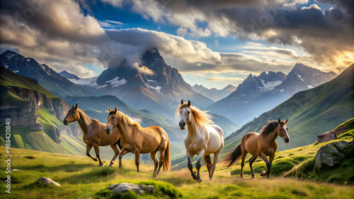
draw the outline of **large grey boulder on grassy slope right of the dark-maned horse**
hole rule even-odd
[[[343,159],[342,151],[348,145],[346,141],[338,141],[322,146],[315,156],[314,167],[334,167]]]

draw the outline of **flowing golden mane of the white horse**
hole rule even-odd
[[[181,109],[183,109],[184,107],[188,107],[187,102],[179,105],[179,107],[176,110],[176,116],[179,114],[179,111],[181,111]],[[207,114],[208,111],[202,111],[202,110],[198,109],[198,107],[195,107],[195,106],[189,106],[189,108],[192,111],[195,122],[199,126],[207,126],[207,125],[214,123],[212,121],[212,116],[210,114]]]

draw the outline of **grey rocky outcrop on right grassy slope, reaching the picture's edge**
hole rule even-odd
[[[354,152],[354,142],[338,141],[324,145],[315,156],[315,169],[328,169],[336,167],[347,156],[351,157]]]

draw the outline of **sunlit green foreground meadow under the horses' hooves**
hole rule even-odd
[[[4,147],[0,154],[4,155]],[[339,186],[332,183],[316,183],[295,179],[274,177],[271,179],[244,179],[230,175],[232,169],[217,165],[212,181],[207,179],[207,171],[202,167],[202,183],[196,183],[188,169],[161,172],[152,177],[152,167],[140,165],[140,173],[135,170],[132,160],[123,160],[123,168],[98,167],[96,162],[86,157],[59,155],[33,150],[11,149],[13,155],[11,195],[5,195],[4,181],[0,182],[0,197],[6,198],[114,198],[106,188],[114,183],[139,183],[154,185],[156,193],[136,195],[127,193],[121,197],[130,198],[353,198],[353,186]],[[292,152],[297,155],[295,152]],[[29,159],[28,157],[33,157]],[[0,156],[1,167],[4,156]],[[3,173],[4,174],[4,173]],[[42,176],[57,181],[61,187],[41,186],[35,183]]]

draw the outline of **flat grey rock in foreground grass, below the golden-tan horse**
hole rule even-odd
[[[135,183],[115,183],[108,187],[109,190],[112,190],[113,193],[115,192],[120,192],[120,193],[126,193],[130,190],[134,191],[135,193],[138,193],[142,195],[145,191],[148,191],[150,193],[154,193],[155,187],[154,186],[144,186],[141,184],[135,184]]]

